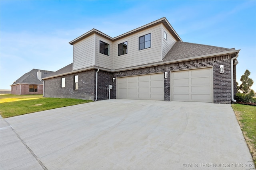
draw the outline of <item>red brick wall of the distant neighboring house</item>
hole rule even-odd
[[[37,92],[29,92],[29,85],[37,86]],[[17,90],[16,90],[16,87],[17,87]],[[21,88],[21,90],[20,90],[20,88]],[[16,95],[43,94],[43,85],[17,84],[17,85],[12,86],[11,93],[16,94]]]

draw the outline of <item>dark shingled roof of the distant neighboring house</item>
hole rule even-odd
[[[12,85],[14,84],[43,84],[38,78],[36,78],[36,74],[40,69],[32,69],[30,72],[25,73],[23,76],[18,78]],[[41,78],[45,78],[49,74],[53,73],[53,71],[48,70],[40,70],[42,72]],[[11,86],[12,86],[11,85]]]

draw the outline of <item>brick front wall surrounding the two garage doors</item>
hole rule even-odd
[[[220,73],[220,65],[224,65],[224,73]],[[164,101],[170,101],[170,71],[186,70],[193,68],[213,67],[213,97],[214,103],[231,103],[231,66],[230,55],[197,59],[180,63],[152,66],[135,70],[115,72],[114,77],[137,76],[142,74],[168,72],[164,78]]]

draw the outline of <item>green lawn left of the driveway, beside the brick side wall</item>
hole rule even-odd
[[[3,96],[5,98],[2,98]],[[6,96],[9,95],[0,97],[0,114],[3,118],[92,102],[70,98],[42,98],[42,95],[10,95],[10,98]]]

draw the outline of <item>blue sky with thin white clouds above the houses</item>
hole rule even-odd
[[[116,37],[162,17],[184,42],[241,49],[256,91],[256,1],[0,1],[0,89],[33,68],[72,63],[68,42],[92,28]]]

